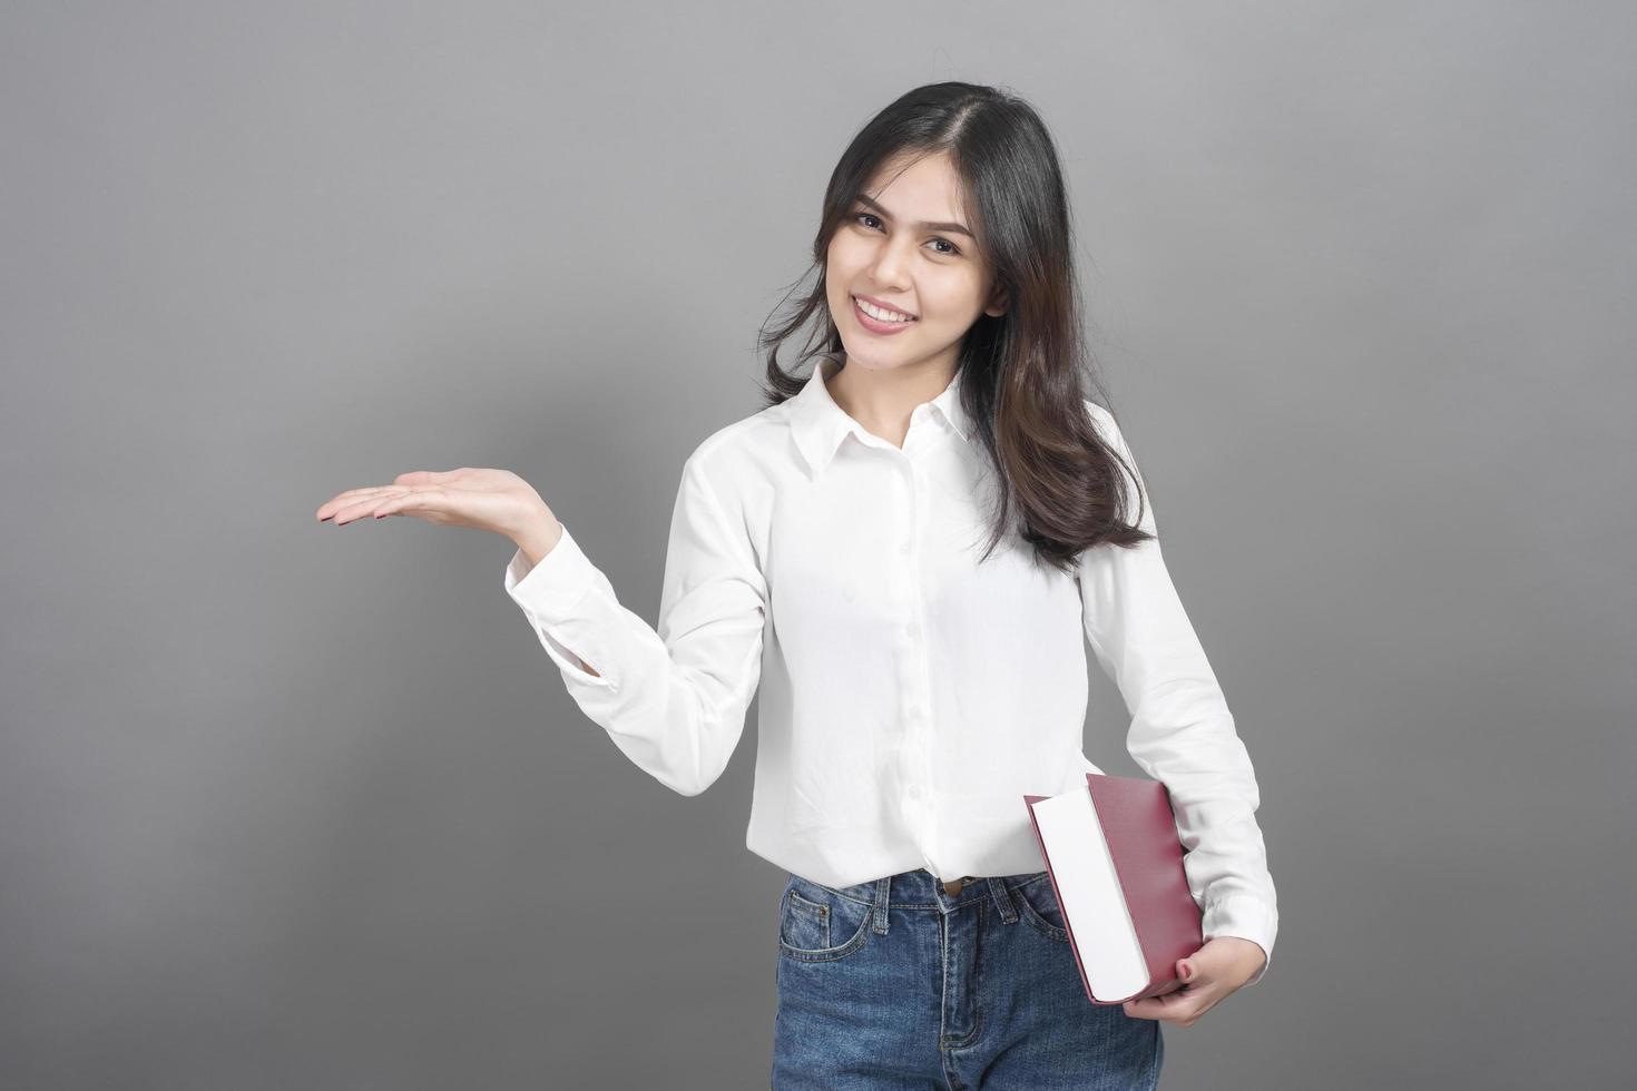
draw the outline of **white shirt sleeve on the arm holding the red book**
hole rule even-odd
[[[1148,489],[1108,411],[1087,402],[1103,437],[1126,460],[1144,499],[1141,528],[1157,535]],[[1278,903],[1256,821],[1260,793],[1233,713],[1166,569],[1159,540],[1134,548],[1097,546],[1079,564],[1085,633],[1120,687],[1136,764],[1170,792],[1185,849],[1188,888],[1203,932],[1239,936],[1272,965]]]

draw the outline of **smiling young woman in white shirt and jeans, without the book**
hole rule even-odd
[[[1259,980],[1278,916],[1249,756],[1084,393],[1039,116],[969,83],[894,101],[830,177],[814,270],[763,335],[769,404],[683,466],[656,628],[507,471],[409,473],[318,517],[514,541],[506,590],[568,692],[683,795],[760,687],[746,844],[789,872],[774,1088],[1154,1086],[1159,1024]],[[814,319],[797,378],[779,348]],[[1085,998],[1023,803],[1100,772],[1087,643],[1205,918],[1185,986],[1125,1006]]]

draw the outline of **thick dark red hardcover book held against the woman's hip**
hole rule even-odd
[[[1085,996],[1123,1004],[1182,988],[1177,960],[1203,945],[1203,916],[1166,785],[1089,772],[1085,788],[1023,801]]]

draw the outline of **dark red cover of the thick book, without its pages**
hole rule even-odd
[[[1177,836],[1177,816],[1170,808],[1170,792],[1159,780],[1094,772],[1085,774],[1085,787],[1148,968],[1148,985],[1130,996],[1098,998],[1092,993],[1085,954],[1097,947],[1092,945],[1090,936],[1084,937],[1085,944],[1076,937],[1074,918],[1064,901],[1051,855],[1046,852],[1039,821],[1035,818],[1035,803],[1051,797],[1025,795],[1030,826],[1035,829],[1035,841],[1039,844],[1046,873],[1062,909],[1062,923],[1069,931],[1069,947],[1074,950],[1085,996],[1094,1004],[1123,1004],[1128,999],[1164,996],[1182,988],[1182,981],[1175,977],[1177,960],[1187,959],[1205,944],[1200,906],[1188,893],[1188,877],[1182,867],[1182,841]],[[1090,833],[1087,836],[1089,842],[1095,844],[1095,836]]]

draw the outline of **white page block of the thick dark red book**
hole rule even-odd
[[[1092,996],[1123,999],[1146,988],[1148,962],[1097,821],[1092,790],[1082,785],[1033,808],[1058,882],[1058,906],[1074,932]]]

